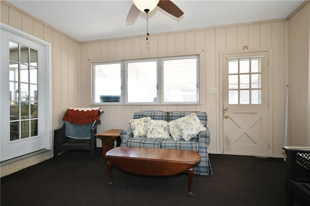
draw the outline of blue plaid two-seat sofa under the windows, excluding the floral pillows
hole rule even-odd
[[[172,121],[181,117],[185,117],[191,113],[196,113],[202,124],[207,129],[199,133],[198,137],[191,138],[185,141],[183,138],[175,141],[173,138],[146,138],[135,137],[131,127],[127,127],[121,131],[122,147],[148,147],[148,148],[162,148],[162,149],[176,149],[176,150],[193,150],[201,155],[201,161],[194,166],[194,174],[209,175],[212,174],[211,164],[208,156],[208,144],[210,142],[210,133],[207,127],[207,114],[205,112],[191,112],[191,111],[139,111],[135,112],[133,119],[140,119],[144,117],[151,117],[152,120]]]

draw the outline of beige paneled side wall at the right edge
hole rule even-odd
[[[310,147],[310,3],[288,20],[289,146]]]

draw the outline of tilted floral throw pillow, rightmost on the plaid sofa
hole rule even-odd
[[[206,130],[196,113],[191,113],[190,115],[176,119],[175,123],[179,127],[185,141],[197,136],[201,131]]]

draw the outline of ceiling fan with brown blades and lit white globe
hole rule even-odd
[[[148,13],[154,10],[156,6],[159,6],[164,11],[177,18],[184,14],[184,12],[171,0],[133,0],[133,4],[126,18],[126,22],[134,22],[140,11]]]

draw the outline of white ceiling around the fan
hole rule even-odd
[[[126,23],[132,0],[7,0],[64,34],[91,41],[146,34],[146,14]],[[158,6],[149,13],[149,33],[182,31],[288,17],[303,0],[172,0],[183,12]]]

